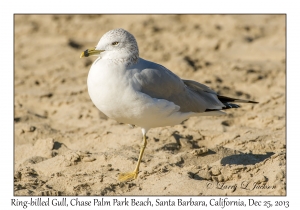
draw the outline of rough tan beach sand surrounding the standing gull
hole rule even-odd
[[[15,15],[15,195],[285,195],[285,27],[284,15]],[[141,130],[99,113],[95,58],[79,59],[114,28],[181,78],[260,103],[151,129],[139,178],[119,183]]]

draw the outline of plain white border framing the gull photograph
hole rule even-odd
[[[296,209],[299,189],[299,161],[297,151],[299,142],[297,128],[299,108],[299,8],[296,1],[1,1],[1,190],[0,206],[10,209],[13,198],[13,14],[14,13],[286,13],[287,14],[287,196],[254,197],[255,200],[288,200],[290,209]],[[290,100],[289,100],[290,99]],[[22,198],[22,197],[17,197]],[[53,197],[52,197],[53,198]],[[107,198],[107,197],[106,197]],[[110,197],[111,199],[116,197]],[[135,198],[135,197],[130,197]],[[136,197],[143,199],[143,197]],[[156,199],[158,197],[151,197]],[[178,197],[168,197],[177,199]],[[215,198],[215,197],[213,197]],[[247,200],[251,197],[229,197]],[[71,199],[71,197],[68,197]],[[202,198],[201,198],[202,199]],[[210,197],[203,197],[210,199]],[[299,198],[298,198],[299,199]],[[20,208],[20,207],[18,207]],[[99,209],[95,207],[89,209]],[[124,207],[123,207],[124,208]],[[132,208],[132,207],[130,207]],[[157,209],[158,207],[156,207]],[[166,208],[166,207],[160,207]],[[199,208],[199,207],[197,207]],[[230,209],[233,207],[230,207]]]

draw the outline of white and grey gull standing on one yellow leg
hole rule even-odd
[[[106,116],[142,128],[143,144],[133,172],[120,181],[136,179],[150,128],[172,126],[191,116],[223,115],[238,108],[233,102],[257,103],[217,95],[209,87],[180,79],[162,65],[139,57],[137,42],[124,29],[102,36],[95,48],[80,57],[98,56],[88,74],[89,95]]]

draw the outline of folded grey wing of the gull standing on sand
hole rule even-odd
[[[224,104],[217,94],[205,85],[191,80],[181,80],[165,67],[143,60],[134,79],[140,91],[152,98],[166,99],[180,106],[181,112],[220,110]]]

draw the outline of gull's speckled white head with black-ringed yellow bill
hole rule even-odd
[[[94,49],[82,52],[80,57],[88,56],[136,62],[139,58],[139,49],[134,36],[128,31],[118,28],[105,33]]]

